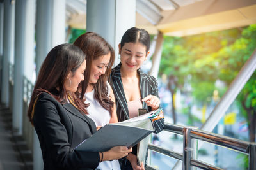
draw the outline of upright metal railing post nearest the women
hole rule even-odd
[[[197,127],[184,127],[183,129],[183,170],[191,169],[190,160],[193,157],[193,147],[195,146],[190,135],[191,129],[197,129]]]

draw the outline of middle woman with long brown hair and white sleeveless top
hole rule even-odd
[[[108,83],[111,67],[115,60],[115,52],[111,45],[99,34],[86,32],[74,42],[86,54],[86,70],[84,81],[80,83],[79,97],[86,99],[86,108],[96,126],[100,127],[118,122],[115,110],[115,97]],[[97,169],[120,170],[118,160],[104,161]]]

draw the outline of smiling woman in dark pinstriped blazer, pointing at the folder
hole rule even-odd
[[[122,36],[118,45],[120,64],[111,71],[111,83],[116,98],[118,122],[139,115],[138,109],[145,112],[159,108],[157,80],[141,71],[140,67],[147,60],[150,47],[150,35],[145,29],[132,27]],[[154,121],[155,133],[161,132],[164,119]],[[129,160],[129,161],[127,161]],[[138,166],[136,147],[127,159],[121,161],[122,169],[144,169]]]

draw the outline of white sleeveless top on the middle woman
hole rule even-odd
[[[107,82],[108,87],[108,94],[110,94],[110,85]],[[94,98],[94,92],[93,89],[92,92],[88,92],[84,94],[84,97],[86,97],[85,103],[90,103],[90,106],[87,108],[88,111],[88,117],[92,118],[92,120],[95,122],[96,126],[104,126],[106,124],[109,124],[110,120],[110,114],[109,111],[103,108],[100,103]],[[104,161],[100,162],[99,166],[96,170],[120,170],[120,165],[118,160],[112,160],[112,161]]]

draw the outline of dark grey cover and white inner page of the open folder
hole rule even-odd
[[[114,146],[127,146],[130,148],[151,132],[154,132],[154,126],[149,118],[107,124],[74,149],[104,152]]]

